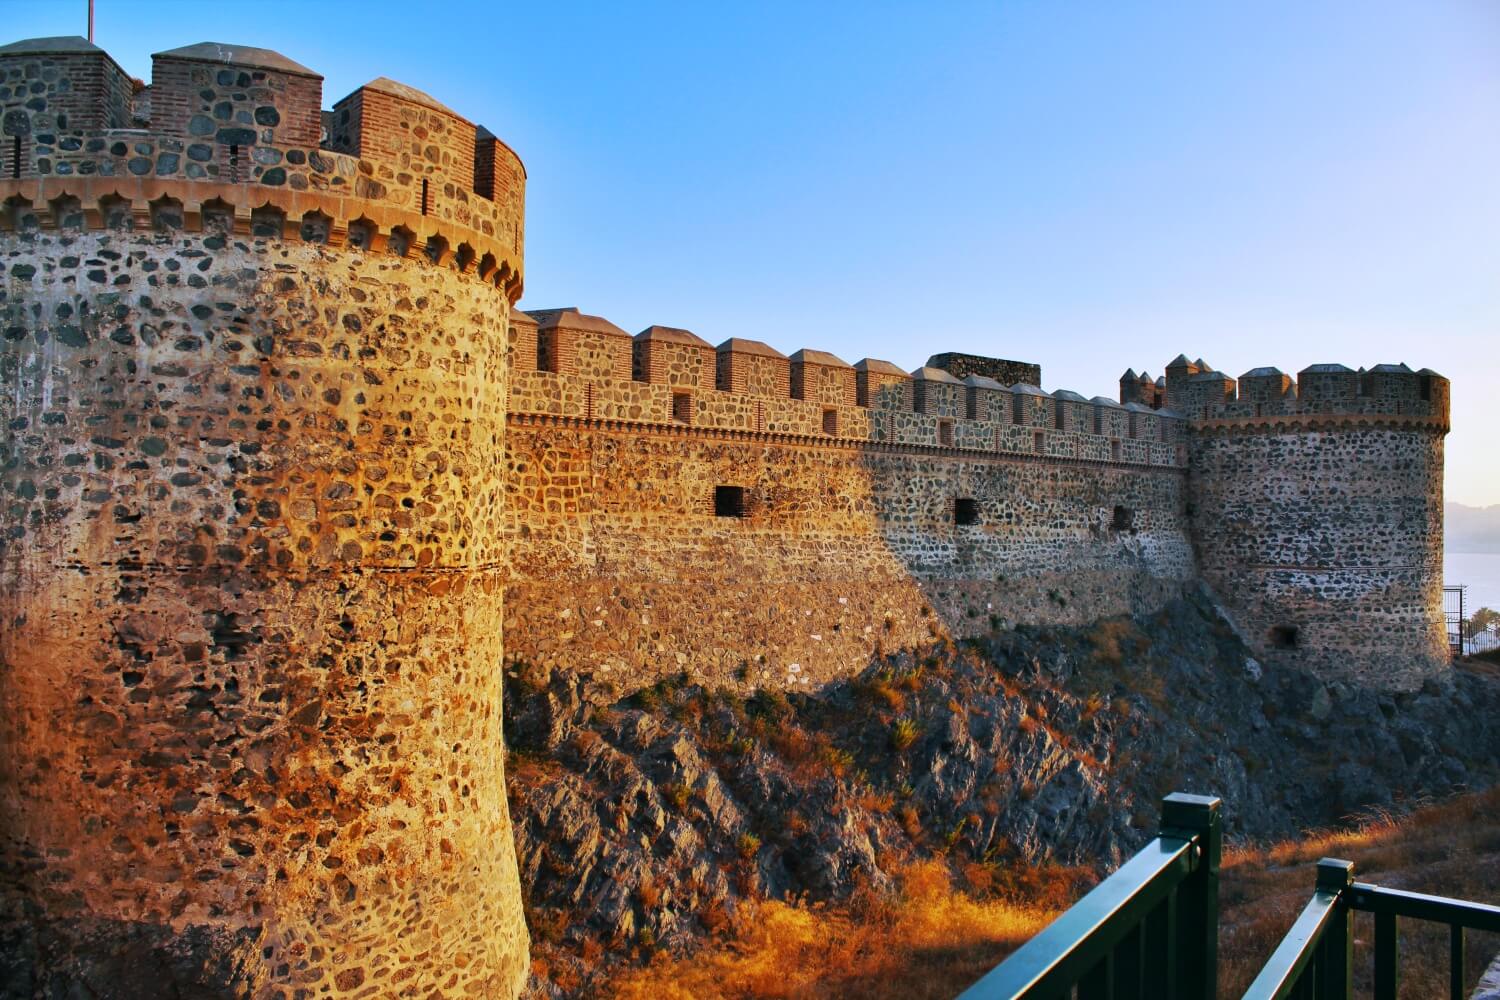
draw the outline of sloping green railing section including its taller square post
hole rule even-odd
[[[1220,801],[1173,793],[1161,831],[960,1000],[1214,1000]]]

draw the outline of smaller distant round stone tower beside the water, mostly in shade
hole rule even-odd
[[[1256,369],[1200,417],[1194,549],[1256,654],[1390,690],[1444,670],[1448,379],[1316,364],[1293,387]]]

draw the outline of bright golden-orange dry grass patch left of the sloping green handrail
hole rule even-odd
[[[970,867],[980,868],[980,867]],[[657,955],[608,988],[620,1000],[738,1000],[765,997],[946,999],[993,969],[1058,916],[1084,885],[1076,870],[1032,870],[1034,898],[992,895],[1004,870],[966,871],[954,886],[940,861],[900,873],[900,891],[862,891],[840,907],[792,903],[741,906],[726,942],[687,957]]]

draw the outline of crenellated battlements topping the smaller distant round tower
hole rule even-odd
[[[1126,370],[1120,402],[1172,406],[1196,426],[1224,427],[1266,418],[1366,417],[1431,421],[1446,429],[1449,381],[1431,369],[1406,364],[1350,369],[1311,364],[1296,379],[1276,367],[1257,367],[1233,379],[1203,360],[1178,355],[1164,381]]]

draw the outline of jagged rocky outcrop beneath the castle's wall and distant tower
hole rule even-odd
[[[1500,679],[1372,694],[1262,667],[1202,594],[939,640],[806,696],[507,684],[530,925],[580,973],[604,946],[686,945],[747,897],[838,900],[918,856],[1002,883],[1108,870],[1173,789],[1222,796],[1228,835],[1258,838],[1486,784],[1500,762]]]

